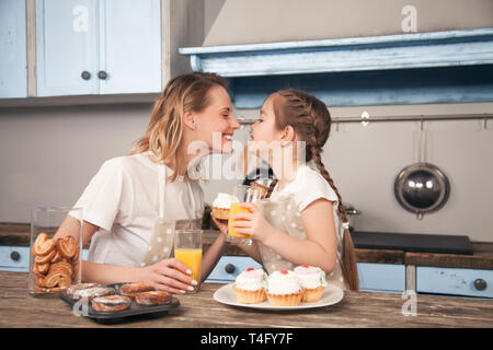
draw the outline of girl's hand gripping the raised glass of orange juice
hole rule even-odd
[[[232,217],[237,233],[250,234],[252,238],[265,243],[265,240],[274,232],[274,228],[265,220],[255,205],[240,203],[240,207],[246,208],[251,212],[240,212]]]

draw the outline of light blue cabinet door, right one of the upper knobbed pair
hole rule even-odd
[[[102,94],[161,91],[160,0],[100,2]]]

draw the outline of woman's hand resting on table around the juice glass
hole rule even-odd
[[[192,273],[190,269],[175,258],[142,267],[141,282],[152,285],[156,290],[169,293],[185,293],[193,291],[197,281],[185,273]]]

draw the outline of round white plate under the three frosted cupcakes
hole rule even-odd
[[[268,301],[259,304],[242,304],[237,300],[237,295],[232,289],[233,283],[223,285],[219,288],[214,293],[214,300],[232,306],[242,306],[242,307],[251,307],[251,308],[261,308],[261,310],[302,310],[302,308],[312,308],[312,307],[322,307],[329,306],[339,303],[344,298],[344,291],[335,285],[329,284],[323,291],[322,298],[314,303],[303,303],[301,302],[298,306],[271,306]]]

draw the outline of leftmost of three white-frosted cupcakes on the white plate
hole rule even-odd
[[[233,291],[238,302],[242,304],[256,304],[265,301],[266,273],[262,269],[246,269],[238,275]]]

